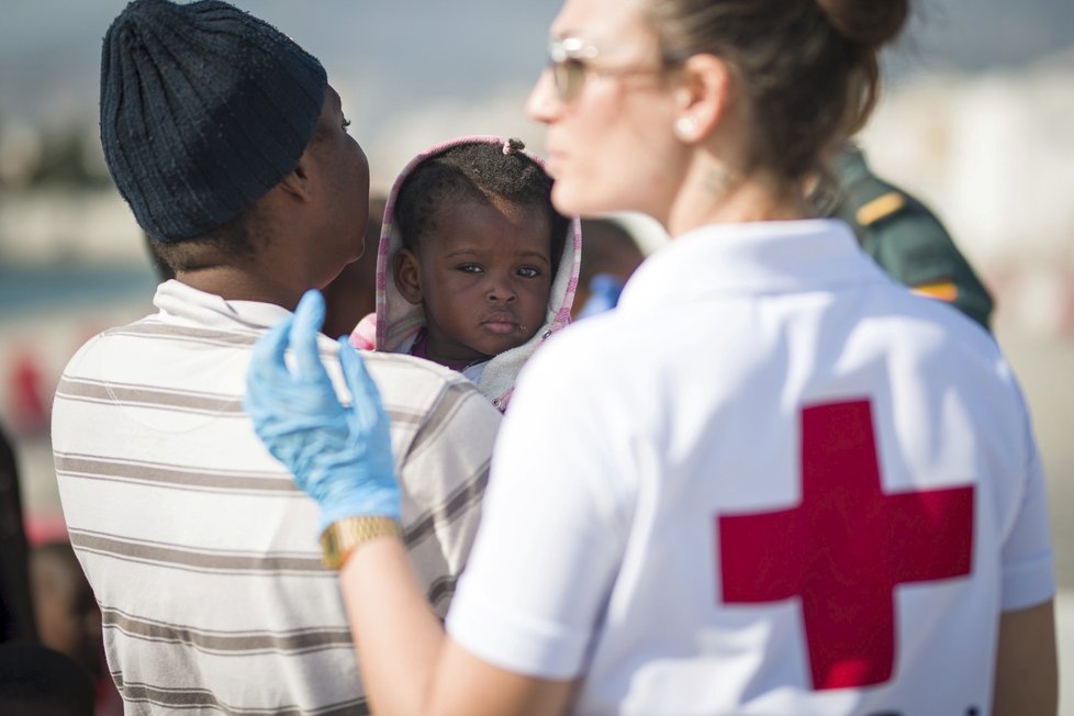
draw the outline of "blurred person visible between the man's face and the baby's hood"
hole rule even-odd
[[[358,322],[377,311],[377,246],[388,199],[369,198],[369,219],[361,256],[347,264],[328,286],[324,287],[324,335],[329,338],[349,336]]]

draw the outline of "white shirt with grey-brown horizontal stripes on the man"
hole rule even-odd
[[[70,361],[53,449],[71,542],[126,714],[366,714],[316,505],[242,409],[254,340],[287,315],[176,281],[159,312]],[[339,388],[336,346],[322,355]],[[368,354],[392,419],[404,539],[441,617],[469,551],[500,414],[460,374]]]

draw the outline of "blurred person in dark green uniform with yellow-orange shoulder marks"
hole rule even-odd
[[[915,293],[946,301],[989,328],[987,289],[929,209],[876,177],[860,147],[846,143],[832,161],[835,208],[862,248],[892,278]]]

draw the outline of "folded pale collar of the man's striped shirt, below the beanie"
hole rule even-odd
[[[157,287],[153,304],[177,318],[221,329],[261,331],[291,315],[290,311],[273,303],[226,301],[175,279]]]

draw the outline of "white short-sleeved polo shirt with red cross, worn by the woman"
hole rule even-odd
[[[524,370],[451,636],[581,714],[984,714],[1054,592],[992,337],[837,221],[706,227]]]

